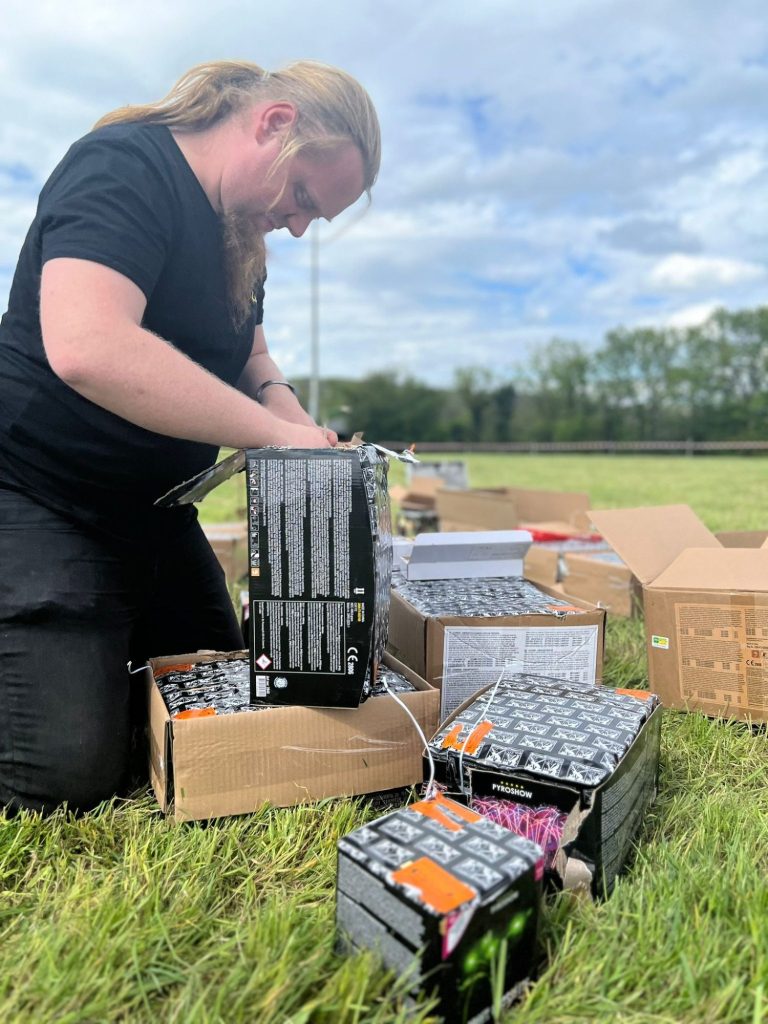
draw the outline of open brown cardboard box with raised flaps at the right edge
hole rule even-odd
[[[724,548],[687,505],[592,512],[643,586],[667,707],[768,721],[768,549]]]

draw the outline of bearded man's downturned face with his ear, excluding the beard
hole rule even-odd
[[[253,144],[241,151],[222,179],[225,213],[261,233],[286,227],[300,238],[312,220],[332,220],[359,199],[362,157],[353,143],[299,153],[281,164],[278,158],[290,122],[275,124],[265,117],[259,127],[264,124],[267,127],[254,132]]]

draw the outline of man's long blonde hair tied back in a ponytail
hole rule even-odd
[[[260,100],[287,101],[296,108],[297,117],[279,163],[301,151],[353,142],[362,156],[364,187],[370,197],[381,162],[381,132],[374,104],[351,75],[315,60],[297,60],[276,72],[266,72],[248,60],[197,65],[163,99],[121,106],[100,118],[94,128],[143,121],[204,131]]]

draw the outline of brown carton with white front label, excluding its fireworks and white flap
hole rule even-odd
[[[553,598],[544,612],[479,616],[468,606],[460,615],[431,615],[414,607],[403,590],[406,584],[392,591],[389,650],[440,688],[440,718],[505,669],[583,683],[602,678],[603,608],[540,587],[545,605]]]

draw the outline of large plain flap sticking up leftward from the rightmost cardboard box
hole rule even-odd
[[[655,580],[686,548],[722,550],[688,505],[593,509],[590,518],[644,584]]]

